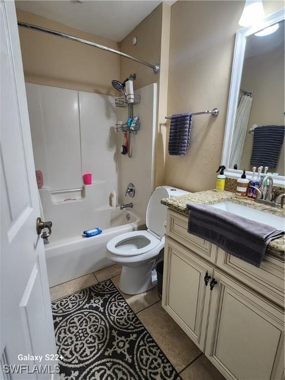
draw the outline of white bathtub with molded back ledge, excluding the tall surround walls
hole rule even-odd
[[[45,246],[49,286],[112,265],[105,257],[107,242],[144,227],[144,221],[134,212],[108,206],[105,188],[104,182],[97,182],[76,191],[40,189],[47,210],[45,217],[52,220],[52,234]],[[102,230],[100,235],[92,238],[82,235],[95,227]]]

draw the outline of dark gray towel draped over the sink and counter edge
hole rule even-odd
[[[204,204],[188,204],[188,232],[259,267],[267,245],[284,231]]]

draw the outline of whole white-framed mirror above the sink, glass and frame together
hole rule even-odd
[[[237,32],[223,161],[226,175],[267,167],[285,176],[285,11]],[[264,171],[264,170],[263,170]]]

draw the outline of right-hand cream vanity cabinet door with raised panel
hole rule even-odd
[[[215,270],[205,355],[227,379],[281,380],[284,312]]]

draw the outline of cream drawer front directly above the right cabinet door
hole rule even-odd
[[[284,307],[284,261],[265,255],[259,268],[217,250],[217,267]]]

